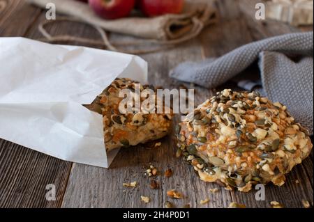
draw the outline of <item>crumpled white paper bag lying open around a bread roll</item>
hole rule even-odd
[[[138,56],[0,38],[0,138],[66,161],[108,167],[103,120],[91,104],[116,77],[147,84]]]

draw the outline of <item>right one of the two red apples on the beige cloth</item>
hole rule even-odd
[[[140,8],[145,15],[157,16],[179,14],[184,8],[184,0],[139,0]]]

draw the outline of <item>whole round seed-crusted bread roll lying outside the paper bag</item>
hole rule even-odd
[[[281,186],[285,174],[308,157],[308,131],[256,92],[223,90],[177,127],[179,151],[201,180],[250,191],[253,184]]]

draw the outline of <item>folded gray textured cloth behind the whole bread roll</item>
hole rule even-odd
[[[292,60],[299,56],[298,61]],[[264,93],[287,106],[313,134],[313,32],[290,33],[244,45],[220,58],[182,63],[170,77],[214,88],[258,60]]]

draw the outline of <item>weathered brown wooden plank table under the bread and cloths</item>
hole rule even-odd
[[[149,63],[150,83],[170,89],[178,88],[181,83],[167,75],[182,61],[201,61],[223,55],[253,40],[299,31],[281,22],[253,19],[255,2],[220,0],[217,3],[220,12],[218,24],[209,26],[195,40],[174,49],[143,55]],[[0,36],[42,37],[37,26],[45,19],[45,11],[22,0],[1,0],[0,8]],[[313,30],[313,27],[302,30]],[[70,33],[99,38],[94,29],[84,24],[64,22],[50,26],[49,31],[52,34]],[[114,34],[110,38],[115,41],[129,39]],[[196,102],[199,103],[214,95],[216,90],[234,88],[234,84],[227,83],[212,90],[188,87],[195,88]],[[257,201],[255,191],[227,191],[216,184],[199,180],[190,166],[174,157],[176,148],[173,134],[160,141],[160,148],[138,145],[136,148],[122,149],[112,166],[105,169],[62,161],[0,139],[0,207],[163,207],[165,201],[169,200],[166,193],[170,189],[177,189],[186,196],[184,200],[172,200],[177,207],[187,203],[191,207],[227,207],[232,202],[244,203],[246,207],[271,207],[273,200],[285,207],[304,207],[302,200],[308,200],[313,206],[313,152],[293,169],[283,187],[267,186],[266,200]],[[172,177],[156,177],[160,189],[151,190],[150,179],[143,175],[143,166],[149,163],[161,171],[172,168]],[[126,189],[122,186],[122,183],[132,181],[137,181],[140,187]],[[57,200],[45,199],[47,184],[56,185]],[[209,191],[216,187],[219,188],[217,193]],[[149,196],[151,202],[142,203],[140,196]],[[200,205],[200,200],[205,198],[210,199],[209,203]]]

